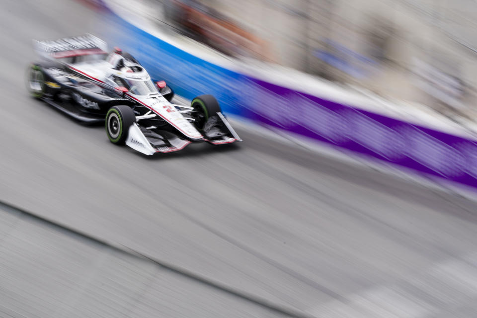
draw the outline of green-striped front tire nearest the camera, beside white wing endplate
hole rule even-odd
[[[117,105],[109,108],[106,113],[105,128],[109,141],[113,144],[123,145],[128,137],[129,127],[136,122],[131,107]]]

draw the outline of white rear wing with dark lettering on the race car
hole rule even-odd
[[[106,42],[91,34],[56,40],[33,41],[35,51],[48,60],[91,54],[106,54]]]

